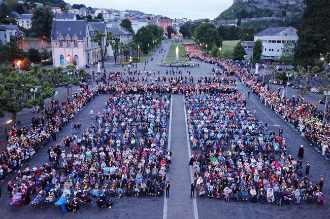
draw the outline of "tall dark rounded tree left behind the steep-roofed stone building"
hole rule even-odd
[[[51,7],[37,7],[33,13],[31,30],[39,37],[46,36],[47,39],[50,39],[53,17]]]

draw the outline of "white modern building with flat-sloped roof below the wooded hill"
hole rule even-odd
[[[296,43],[298,35],[296,29],[289,27],[269,27],[257,32],[254,41],[261,40],[262,54],[261,59],[277,60],[282,54],[283,43],[291,41]]]

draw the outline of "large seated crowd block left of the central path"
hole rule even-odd
[[[161,196],[171,163],[166,149],[170,100],[171,95],[150,92],[110,97],[81,137],[68,136],[73,141],[63,139],[50,148],[50,164],[27,166],[9,191],[27,201],[36,192],[31,205],[52,203],[62,211],[78,210],[79,202],[90,205],[91,196],[98,198],[98,207],[109,208],[114,196]]]

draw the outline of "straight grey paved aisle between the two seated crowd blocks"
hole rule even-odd
[[[171,189],[170,198],[167,200],[167,217],[163,214],[163,218],[194,218],[193,199],[189,198],[191,173],[188,165],[190,156],[187,148],[183,96],[173,95],[172,101],[171,151],[173,155],[169,172]]]

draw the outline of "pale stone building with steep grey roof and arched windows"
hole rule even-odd
[[[100,60],[100,47],[90,41],[95,30],[106,32],[106,23],[54,19],[51,32],[53,66],[65,68],[72,64],[73,58],[78,67]],[[104,38],[104,44],[105,40]]]

